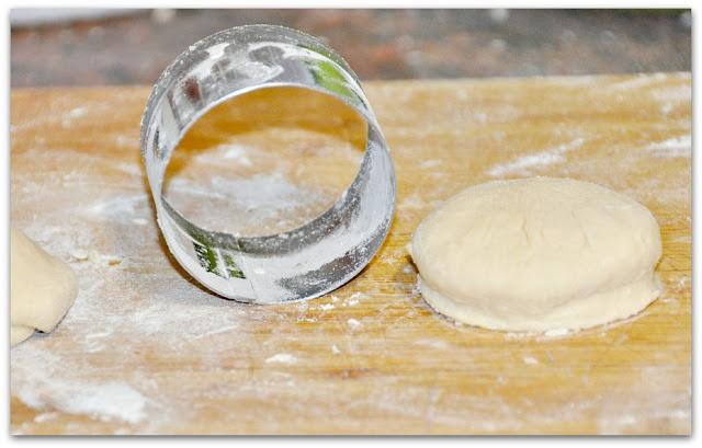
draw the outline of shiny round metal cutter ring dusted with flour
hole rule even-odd
[[[331,208],[285,233],[244,237],[194,225],[162,194],[173,150],[216,105],[271,87],[322,92],[365,119],[367,140],[355,179]],[[141,157],[158,225],[176,260],[206,288],[239,301],[276,303],[338,288],[377,252],[395,210],[393,161],[358,77],[325,44],[286,27],[234,27],[182,53],[146,104]]]

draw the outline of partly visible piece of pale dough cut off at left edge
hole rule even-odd
[[[36,245],[24,233],[10,231],[11,344],[30,337],[34,330],[54,330],[76,300],[73,271]]]

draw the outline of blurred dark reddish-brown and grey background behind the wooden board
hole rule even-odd
[[[151,84],[195,41],[271,23],[325,38],[362,79],[691,70],[679,10],[137,10],[26,24],[13,18],[12,87]]]

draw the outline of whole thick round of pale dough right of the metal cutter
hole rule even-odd
[[[635,314],[661,291],[650,211],[568,179],[467,188],[419,225],[411,254],[433,309],[495,330],[584,329]]]

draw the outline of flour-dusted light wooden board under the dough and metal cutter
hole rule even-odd
[[[272,307],[214,297],[168,256],[138,153],[148,89],[13,91],[12,225],[71,264],[80,294],[54,333],[11,351],[12,433],[689,434],[690,76],[366,91],[397,170],[389,238],[341,289]],[[324,97],[274,93],[193,128],[169,172],[174,202],[251,232],[332,202],[362,126]],[[663,297],[568,335],[433,313],[405,253],[412,230],[469,185],[529,175],[597,182],[649,207]]]

